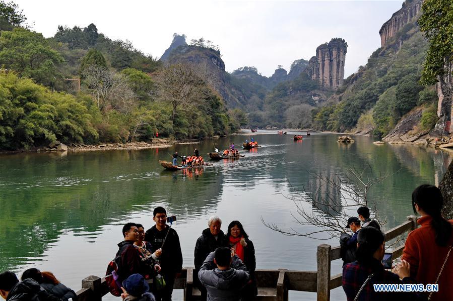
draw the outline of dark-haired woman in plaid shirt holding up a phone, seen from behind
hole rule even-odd
[[[357,261],[343,267],[342,285],[348,301],[427,300],[425,295],[415,292],[374,290],[373,284],[415,284],[415,280],[410,277],[410,264],[406,260],[395,267],[395,273],[384,269],[381,262],[385,253],[384,239],[384,234],[374,227],[364,227],[359,231]]]

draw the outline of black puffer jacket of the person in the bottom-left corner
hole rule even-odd
[[[61,299],[41,289],[38,282],[29,278],[17,283],[10,290],[7,301],[61,301]]]

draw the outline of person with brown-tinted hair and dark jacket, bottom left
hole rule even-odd
[[[49,294],[63,301],[68,301],[69,298],[73,298],[73,301],[77,300],[76,292],[58,281],[51,272],[41,272],[37,268],[29,268],[24,271],[21,280],[24,281],[29,278],[38,282],[41,288]]]

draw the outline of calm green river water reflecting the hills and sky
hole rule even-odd
[[[191,173],[164,171],[158,160],[168,153],[191,154],[241,145],[245,136],[207,140],[168,149],[103,151],[68,154],[0,156],[0,270],[19,274],[26,268],[50,270],[63,283],[80,289],[81,279],[102,276],[122,240],[125,222],[153,225],[152,210],[164,206],[178,221],[184,266],[193,266],[195,241],[211,215],[219,215],[225,231],[240,220],[256,248],[257,268],[314,270],[316,246],[323,241],[287,237],[264,227],[261,218],[284,229],[294,223],[295,189],[315,191],[313,173],[343,174],[352,166],[369,165],[374,174],[391,174],[371,191],[381,203],[386,228],[411,214],[411,192],[421,183],[438,184],[451,153],[429,147],[376,146],[368,137],[339,145],[337,135],[313,134],[294,142],[292,135],[258,133],[263,147],[243,151],[237,161],[215,162]],[[394,174],[395,173],[395,174]],[[338,245],[332,241],[332,245]],[[333,262],[333,273],[341,263]],[[293,299],[314,299],[313,293],[291,293]],[[182,299],[182,291],[174,293]],[[105,299],[116,299],[105,297]],[[333,291],[333,299],[344,299]]]

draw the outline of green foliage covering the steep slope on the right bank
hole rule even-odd
[[[433,101],[432,91],[425,91],[419,83],[426,40],[414,25],[408,24],[399,34],[406,38],[401,48],[398,43],[376,50],[366,66],[337,91],[341,102],[314,112],[316,129],[344,132],[356,127],[360,116],[372,110],[373,120],[368,123],[375,125],[374,134],[385,135],[417,104]]]

